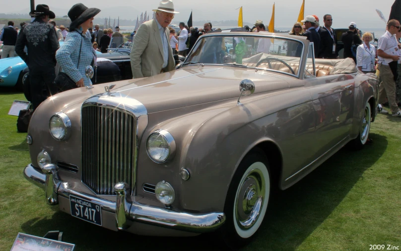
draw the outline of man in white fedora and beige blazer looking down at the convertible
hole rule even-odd
[[[161,0],[153,11],[155,18],[141,24],[134,36],[131,50],[133,79],[155,76],[175,67],[170,31],[166,27],[179,12],[174,11],[172,0]]]

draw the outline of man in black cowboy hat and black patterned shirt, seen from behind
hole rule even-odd
[[[15,45],[15,52],[29,68],[30,90],[33,108],[39,106],[51,94],[56,93],[53,81],[56,78],[56,51],[59,49],[59,39],[53,25],[48,23],[56,15],[46,4],[38,4],[36,9],[29,13],[35,19],[22,26]],[[24,52],[25,46],[28,54]],[[43,84],[49,92],[43,95]]]

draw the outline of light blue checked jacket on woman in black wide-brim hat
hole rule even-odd
[[[68,32],[64,44],[56,52],[56,60],[61,66],[62,72],[66,73],[71,80],[78,82],[83,78],[85,86],[89,86],[91,81],[85,76],[85,68],[95,60],[95,52],[90,38],[85,35],[81,36],[82,31],[78,29],[76,31],[78,32]],[[79,58],[81,44],[81,57]]]

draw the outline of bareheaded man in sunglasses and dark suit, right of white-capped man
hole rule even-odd
[[[335,30],[332,29],[332,24],[333,24],[333,17],[331,14],[326,14],[323,16],[323,22],[325,25],[322,27],[322,29],[327,30],[328,33],[326,36],[322,36],[322,33],[320,34],[320,39],[321,39],[321,49],[320,49],[320,56],[322,58],[328,58],[328,59],[336,59],[338,58],[338,51],[336,48],[336,43],[337,43],[337,34],[335,34]]]

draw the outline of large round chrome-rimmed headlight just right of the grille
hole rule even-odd
[[[166,130],[157,130],[147,138],[146,152],[150,159],[156,163],[172,160],[175,150],[174,138]]]

